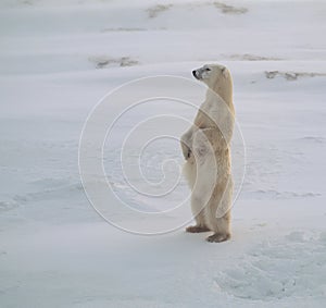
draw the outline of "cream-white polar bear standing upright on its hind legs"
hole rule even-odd
[[[181,136],[184,175],[191,188],[196,225],[187,232],[213,231],[208,242],[230,238],[233,177],[230,139],[235,123],[233,79],[223,65],[208,64],[192,71],[209,88],[193,124]]]

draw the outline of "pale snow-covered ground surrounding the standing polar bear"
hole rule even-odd
[[[0,8],[1,307],[325,307],[323,1],[3,0]],[[226,64],[235,83],[241,192],[231,241],[185,233],[191,213],[176,139],[149,143],[136,159],[146,138],[166,127],[178,137],[193,118],[166,98],[131,110],[108,135],[103,167],[129,207],[95,170],[91,188],[108,223],[79,176],[87,116],[116,87],[155,75],[193,86],[164,82],[154,94],[162,86],[199,104],[204,90],[191,71],[210,62]],[[135,99],[143,87],[124,95]],[[112,116],[122,108],[106,106]],[[168,118],[131,134],[123,161],[142,193],[141,172],[155,183],[150,193],[177,184],[150,198],[127,185],[120,148],[155,114]]]

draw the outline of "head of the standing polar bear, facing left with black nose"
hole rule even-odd
[[[205,64],[200,69],[193,70],[192,75],[224,99],[228,100],[231,97],[233,79],[230,72],[224,65]]]

